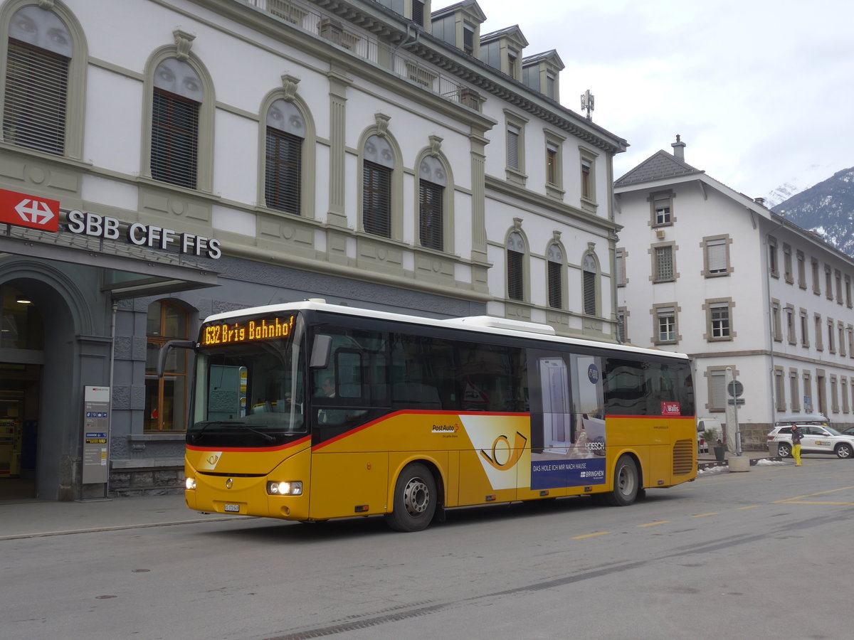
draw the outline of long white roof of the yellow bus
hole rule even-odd
[[[662,349],[653,349],[642,346],[621,345],[612,342],[603,342],[600,340],[587,340],[582,338],[570,338],[566,336],[556,335],[553,327],[548,324],[529,323],[521,320],[512,320],[502,317],[493,316],[468,316],[468,317],[449,317],[449,318],[434,318],[422,316],[410,316],[404,313],[393,313],[390,311],[374,311],[362,307],[345,306],[345,305],[330,305],[324,300],[303,300],[301,302],[286,302],[278,305],[263,305],[237,309],[235,311],[225,311],[225,313],[215,313],[212,316],[205,318],[204,323],[227,321],[237,317],[265,316],[269,314],[287,313],[289,311],[323,311],[325,313],[335,313],[341,316],[358,316],[371,317],[377,320],[388,320],[395,323],[420,324],[428,327],[448,327],[453,329],[461,329],[479,334],[491,335],[512,335],[520,338],[535,338],[537,340],[547,340],[550,342],[559,342],[567,345],[591,346],[596,348],[606,348],[613,351],[623,351],[630,353],[646,353],[658,357],[678,358],[687,360],[688,357],[684,353],[664,351]]]

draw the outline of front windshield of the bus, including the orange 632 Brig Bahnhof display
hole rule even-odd
[[[301,334],[295,316],[202,326],[187,444],[269,447],[306,433]]]

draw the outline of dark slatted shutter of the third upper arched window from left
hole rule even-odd
[[[280,211],[301,212],[302,138],[267,127],[266,206]]]

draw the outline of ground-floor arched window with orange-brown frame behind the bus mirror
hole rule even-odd
[[[161,346],[168,340],[186,340],[189,337],[189,325],[184,307],[169,300],[158,300],[149,305],[145,331],[148,344],[143,423],[146,431],[184,431],[189,352],[186,349],[170,350],[162,378],[157,377],[157,358]]]

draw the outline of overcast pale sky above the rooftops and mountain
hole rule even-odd
[[[478,4],[482,34],[518,24],[525,56],[557,49],[565,107],[591,90],[594,122],[630,145],[615,177],[677,133],[688,164],[752,198],[854,166],[851,0]]]

